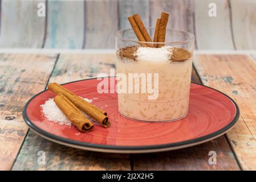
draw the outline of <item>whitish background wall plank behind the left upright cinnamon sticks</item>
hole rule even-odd
[[[145,27],[150,27],[150,0],[119,1],[119,29],[131,28],[127,17],[135,13],[140,15]]]

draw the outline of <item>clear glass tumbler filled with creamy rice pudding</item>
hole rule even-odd
[[[147,31],[153,37],[154,28]],[[132,28],[117,31],[119,113],[147,122],[186,117],[193,47],[190,32],[166,28],[165,43],[153,43],[137,41]]]

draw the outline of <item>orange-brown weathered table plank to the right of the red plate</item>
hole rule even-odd
[[[240,118],[227,133],[242,169],[256,169],[256,64],[246,55],[197,55],[194,65],[202,82],[231,96]]]

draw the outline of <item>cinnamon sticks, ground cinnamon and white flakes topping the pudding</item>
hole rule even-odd
[[[128,20],[131,23],[132,29],[135,32],[138,40],[140,41],[140,46],[127,46],[121,48],[119,49],[117,56],[124,61],[125,59],[140,61],[139,57],[141,56],[144,58],[146,57],[147,60],[150,60],[152,57],[154,57],[155,60],[160,60],[162,58],[166,61],[170,61],[170,63],[173,61],[188,60],[191,57],[191,53],[188,50],[184,48],[165,46],[164,44],[168,19],[169,14],[162,12],[161,18],[156,20],[155,34],[153,38],[154,44],[151,44],[151,36],[148,34],[148,31],[145,28],[139,14],[129,16]]]

